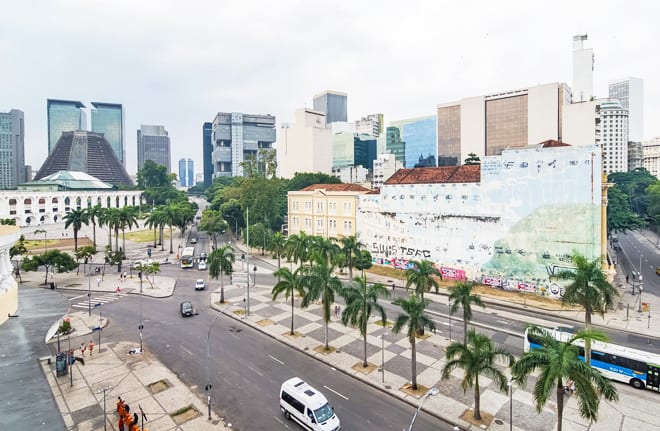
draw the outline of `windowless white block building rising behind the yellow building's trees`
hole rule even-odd
[[[282,124],[277,137],[277,168],[282,178],[296,172],[332,173],[332,131],[325,114],[309,108],[296,111],[294,124]]]

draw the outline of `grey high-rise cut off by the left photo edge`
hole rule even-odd
[[[15,189],[25,181],[23,111],[0,112],[0,189]]]

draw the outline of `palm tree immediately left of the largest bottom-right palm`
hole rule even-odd
[[[463,392],[467,388],[474,387],[474,418],[481,420],[481,387],[479,385],[479,375],[483,374],[492,379],[500,391],[505,391],[508,381],[504,373],[496,366],[498,359],[505,359],[509,366],[513,365],[513,355],[497,346],[484,334],[478,334],[474,329],[470,329],[467,336],[467,343],[455,341],[447,346],[445,357],[447,363],[442,369],[442,379],[449,378],[450,373],[455,368],[464,370],[461,387]]]

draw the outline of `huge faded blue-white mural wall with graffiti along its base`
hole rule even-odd
[[[360,199],[360,241],[375,263],[427,259],[494,287],[561,295],[551,278],[573,251],[600,255],[597,150],[505,150],[484,158],[480,183],[386,185]]]

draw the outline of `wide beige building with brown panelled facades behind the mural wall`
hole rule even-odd
[[[550,83],[440,104],[438,159],[444,166],[460,165],[470,153],[483,158],[499,155],[506,148],[559,140],[562,108],[570,101],[566,84]],[[405,133],[402,139],[408,146]],[[406,148],[406,167],[419,162],[416,153]],[[414,160],[408,160],[408,154]]]

